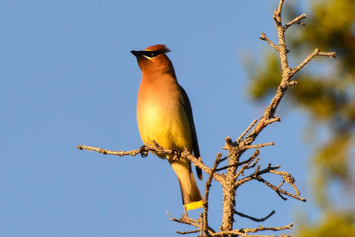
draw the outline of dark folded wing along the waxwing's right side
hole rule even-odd
[[[182,94],[182,105],[184,106],[187,119],[189,120],[190,123],[190,129],[191,129],[191,135],[192,135],[192,150],[193,154],[195,155],[196,158],[200,157],[200,149],[198,148],[198,142],[197,142],[197,134],[196,134],[196,129],[195,129],[195,123],[193,123],[193,117],[192,117],[192,109],[191,109],[191,104],[189,97],[187,97],[187,94],[180,85],[180,90]],[[202,170],[198,167],[196,167],[196,172],[197,172],[197,177],[199,180],[202,180]]]

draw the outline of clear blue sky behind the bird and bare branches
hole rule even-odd
[[[272,12],[277,4],[2,1],[2,235],[178,236],[175,230],[192,230],[166,215],[166,210],[174,217],[182,213],[167,161],[153,155],[119,158],[76,146],[131,150],[142,145],[135,115],[141,72],[130,50],[166,44],[192,104],[202,159],[212,166],[217,152],[224,152],[224,138],[236,139],[266,107],[250,102],[241,58],[261,60],[266,42],[258,39],[260,32],[276,39]],[[285,103],[278,116],[282,122],[257,139],[275,142],[261,150],[261,164],[290,172],[308,202],[284,202],[256,182],[242,186],[238,211],[259,218],[276,211],[264,226],[294,222],[300,209],[317,216],[307,186],[310,147],[301,143],[306,117]],[[203,191],[204,182],[198,186]],[[220,191],[213,182],[209,217],[215,229],[221,220]],[[258,225],[236,218],[236,228]]]

